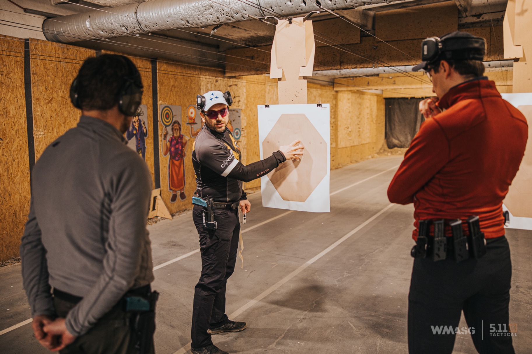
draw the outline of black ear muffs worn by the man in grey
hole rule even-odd
[[[129,72],[131,75],[124,77],[124,83],[118,96],[118,110],[122,114],[133,116],[137,113],[138,107],[142,103],[142,94],[144,90],[142,80],[140,79],[140,73],[136,70],[133,63],[128,60],[126,60],[126,63],[129,66]],[[78,77],[76,77],[70,86],[70,100],[74,107],[81,109],[78,90],[79,81]]]

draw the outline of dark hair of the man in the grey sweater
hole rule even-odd
[[[111,109],[118,104],[127,80],[142,88],[137,67],[123,55],[102,54],[87,58],[78,73],[79,104],[85,111]]]

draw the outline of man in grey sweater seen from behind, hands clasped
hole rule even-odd
[[[154,352],[152,179],[123,137],[142,92],[127,57],[88,58],[70,92],[80,121],[32,171],[20,255],[32,326],[48,349]]]

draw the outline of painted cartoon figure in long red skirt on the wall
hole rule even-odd
[[[177,120],[172,122],[172,136],[168,138],[168,131],[163,132],[163,156],[170,153],[168,161],[168,189],[172,192],[170,203],[176,203],[177,195],[179,199],[185,200],[185,150],[188,139],[181,134],[181,123]]]

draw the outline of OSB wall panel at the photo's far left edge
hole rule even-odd
[[[24,41],[0,36],[0,262],[19,255],[28,217],[30,170],[24,99]]]

